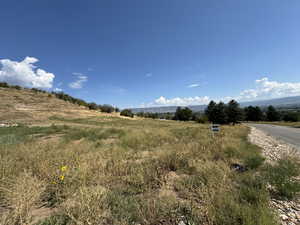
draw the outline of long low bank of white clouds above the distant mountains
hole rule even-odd
[[[193,85],[193,84],[192,84]],[[188,87],[192,86],[189,85]],[[193,87],[196,87],[193,85]],[[226,96],[214,99],[215,101],[228,102],[231,99],[236,99],[240,102],[252,101],[252,100],[262,100],[271,98],[282,98],[289,96],[300,95],[300,82],[278,82],[271,81],[267,77],[263,77],[255,81],[255,87],[252,89],[246,89],[240,92],[237,96]],[[176,97],[176,98],[166,98],[161,96],[149,104],[143,104],[144,107],[150,106],[188,106],[188,105],[203,105],[208,104],[211,100],[208,96],[195,96],[195,97]]]

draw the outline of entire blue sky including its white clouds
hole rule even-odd
[[[300,95],[299,12],[298,0],[3,1],[0,81],[121,108]]]

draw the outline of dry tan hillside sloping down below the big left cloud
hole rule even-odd
[[[44,123],[51,116],[86,117],[99,115],[83,106],[30,89],[0,87],[0,123]]]

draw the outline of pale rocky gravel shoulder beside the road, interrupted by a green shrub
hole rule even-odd
[[[276,139],[264,131],[251,126],[249,141],[262,148],[262,154],[269,162],[276,161],[286,156],[300,157],[300,152],[294,146]],[[280,218],[283,225],[299,225],[300,224],[300,199],[294,201],[279,201],[272,199],[271,207],[273,207]]]

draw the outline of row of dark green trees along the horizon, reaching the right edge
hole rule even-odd
[[[239,103],[235,100],[231,100],[227,104],[211,101],[204,112],[193,112],[188,107],[177,107],[175,113],[138,112],[136,115],[153,119],[196,121],[199,123],[211,122],[233,125],[240,121],[300,121],[300,110],[277,110],[272,105],[267,108],[260,108],[258,106],[241,108]]]

